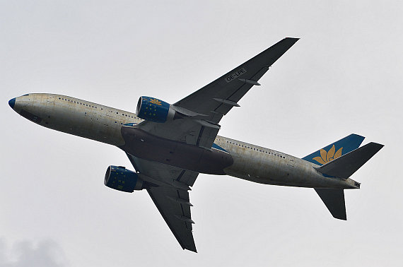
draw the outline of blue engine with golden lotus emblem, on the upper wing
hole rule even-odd
[[[136,115],[146,121],[163,123],[173,119],[175,110],[167,102],[153,97],[142,96],[137,102]]]

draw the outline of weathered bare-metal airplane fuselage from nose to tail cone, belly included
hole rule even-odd
[[[358,188],[352,179],[323,176],[311,162],[223,136],[216,137],[211,150],[151,136],[136,127],[143,119],[122,109],[54,94],[28,94],[14,101],[18,114],[41,126],[108,143],[145,160],[261,184]],[[153,149],[144,149],[149,146]]]

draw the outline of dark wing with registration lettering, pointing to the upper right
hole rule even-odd
[[[144,121],[139,128],[156,136],[210,149],[222,117],[233,107],[239,107],[238,101],[253,85],[259,85],[257,81],[269,67],[297,41],[297,38],[285,38],[277,42],[216,81],[176,102],[173,108],[188,114],[185,119],[163,124]]]

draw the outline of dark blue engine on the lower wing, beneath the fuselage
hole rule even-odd
[[[129,193],[144,188],[143,180],[139,178],[139,174],[127,170],[125,167],[117,166],[107,167],[104,184],[112,189]]]

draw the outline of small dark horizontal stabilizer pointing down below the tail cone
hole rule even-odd
[[[343,189],[317,189],[316,193],[320,196],[327,209],[333,217],[340,220],[347,220],[346,203],[344,202]]]

